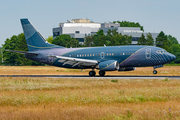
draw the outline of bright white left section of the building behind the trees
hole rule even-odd
[[[59,27],[53,28],[53,38],[67,34],[83,43],[84,37],[95,34],[100,28],[100,23],[94,23],[88,19],[68,20],[66,23],[60,23]]]

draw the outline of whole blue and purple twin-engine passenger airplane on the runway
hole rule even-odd
[[[48,43],[27,19],[20,19],[24,31],[28,51],[6,50],[24,54],[27,59],[51,66],[92,69],[89,76],[96,76],[94,69],[99,70],[100,76],[106,71],[132,71],[136,67],[156,68],[176,59],[176,56],[155,46],[127,45],[65,48]]]

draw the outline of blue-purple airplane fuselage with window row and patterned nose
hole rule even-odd
[[[26,55],[26,58],[65,68],[87,69],[96,66],[84,67],[81,64],[73,66],[64,64],[58,58],[49,55],[91,59],[99,62],[115,60],[119,67],[147,67],[163,65],[174,60],[174,55],[166,52],[162,48],[154,46],[110,46],[110,47],[86,47],[86,48],[51,48],[36,51],[38,55]]]

